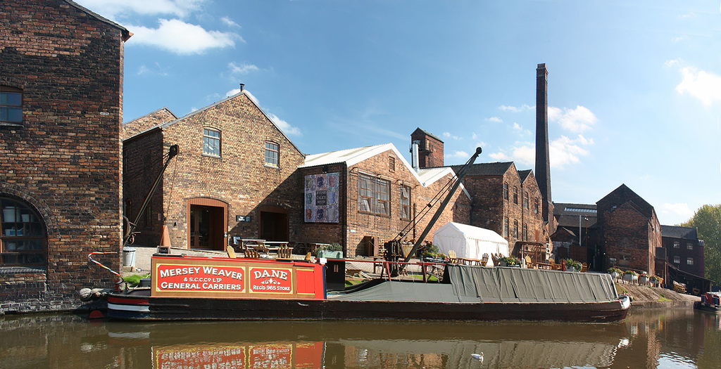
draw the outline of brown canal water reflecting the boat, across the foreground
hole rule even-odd
[[[721,321],[690,307],[616,324],[5,316],[0,368],[721,368]]]

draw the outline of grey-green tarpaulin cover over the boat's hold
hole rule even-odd
[[[605,302],[618,300],[609,274],[447,265],[450,283],[389,281],[329,299],[418,302]]]

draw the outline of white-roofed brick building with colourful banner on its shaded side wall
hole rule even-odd
[[[301,173],[304,241],[338,242],[346,245],[349,256],[375,255],[383,241],[393,240],[404,229],[404,240],[416,240],[439,204],[426,205],[454,178],[451,168],[414,170],[392,144],[309,155]],[[317,178],[328,179],[321,179],[325,185],[319,187]],[[318,191],[322,204],[328,205],[317,205]],[[424,210],[428,216],[411,224]],[[433,240],[433,232],[447,222],[468,224],[469,216],[469,193],[460,187],[427,239]]]

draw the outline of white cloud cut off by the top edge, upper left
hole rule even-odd
[[[172,14],[177,17],[187,17],[192,12],[200,10],[205,0],[76,0],[82,6],[91,9],[102,17],[115,19],[128,14]]]

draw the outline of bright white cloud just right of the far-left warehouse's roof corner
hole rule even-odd
[[[133,37],[128,45],[149,45],[176,54],[201,54],[205,50],[234,46],[239,35],[229,32],[207,31],[196,24],[179,19],[159,19],[158,28],[128,26]]]

